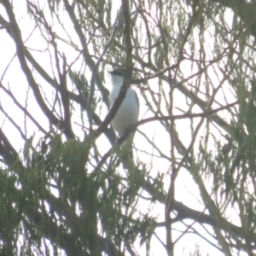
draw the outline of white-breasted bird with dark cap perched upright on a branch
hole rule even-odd
[[[113,102],[119,96],[119,90],[124,82],[125,69],[114,69],[108,71],[111,75],[111,84],[112,90],[109,94],[110,108],[113,105]],[[137,93],[135,90],[128,88],[125,94],[125,98],[119,110],[114,115],[111,124],[113,125],[113,130],[118,134],[119,137],[122,137],[127,130],[131,128],[132,125],[135,125],[138,121],[139,116],[139,101]],[[132,131],[129,137],[126,138],[125,143],[121,147],[121,158],[123,166],[125,169],[128,169],[130,164],[133,164],[133,154],[132,154],[132,142],[134,138],[135,131]]]

